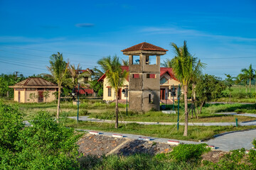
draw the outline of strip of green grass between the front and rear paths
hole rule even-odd
[[[222,132],[233,130],[248,130],[256,126],[189,126],[188,137],[183,136],[184,126],[180,125],[179,130],[175,125],[139,125],[137,123],[119,123],[119,128],[114,128],[114,123],[93,123],[82,122],[76,123],[75,120],[69,120],[65,124],[67,127],[78,128],[83,130],[100,130],[105,132],[128,133],[134,135],[146,135],[150,137],[162,137],[176,140],[205,140]]]

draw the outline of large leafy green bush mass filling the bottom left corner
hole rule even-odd
[[[15,106],[0,103],[0,169],[78,169],[78,146],[72,128],[39,112],[23,128]]]

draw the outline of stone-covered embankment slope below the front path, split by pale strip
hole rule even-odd
[[[102,156],[119,147],[112,154],[130,155],[130,154],[159,154],[171,152],[171,145],[159,142],[147,142],[143,140],[129,140],[125,138],[114,138],[105,135],[83,136],[79,141],[79,152],[84,156],[93,154]],[[126,142],[124,142],[126,141]]]

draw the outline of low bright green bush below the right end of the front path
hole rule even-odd
[[[196,161],[201,159],[201,156],[204,152],[209,152],[210,148],[206,148],[206,144],[188,144],[188,145],[178,145],[174,147],[174,150],[170,152],[171,158],[177,162],[186,162],[186,161]]]

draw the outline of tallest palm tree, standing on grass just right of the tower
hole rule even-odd
[[[183,93],[184,93],[184,102],[185,102],[185,128],[184,136],[188,135],[188,84],[193,78],[193,74],[196,74],[201,71],[204,67],[204,64],[199,60],[194,58],[189,52],[186,45],[186,40],[184,40],[183,47],[178,47],[175,43],[171,43],[171,46],[174,47],[175,57],[171,60],[171,66],[174,69],[174,74],[176,78],[181,81]]]

